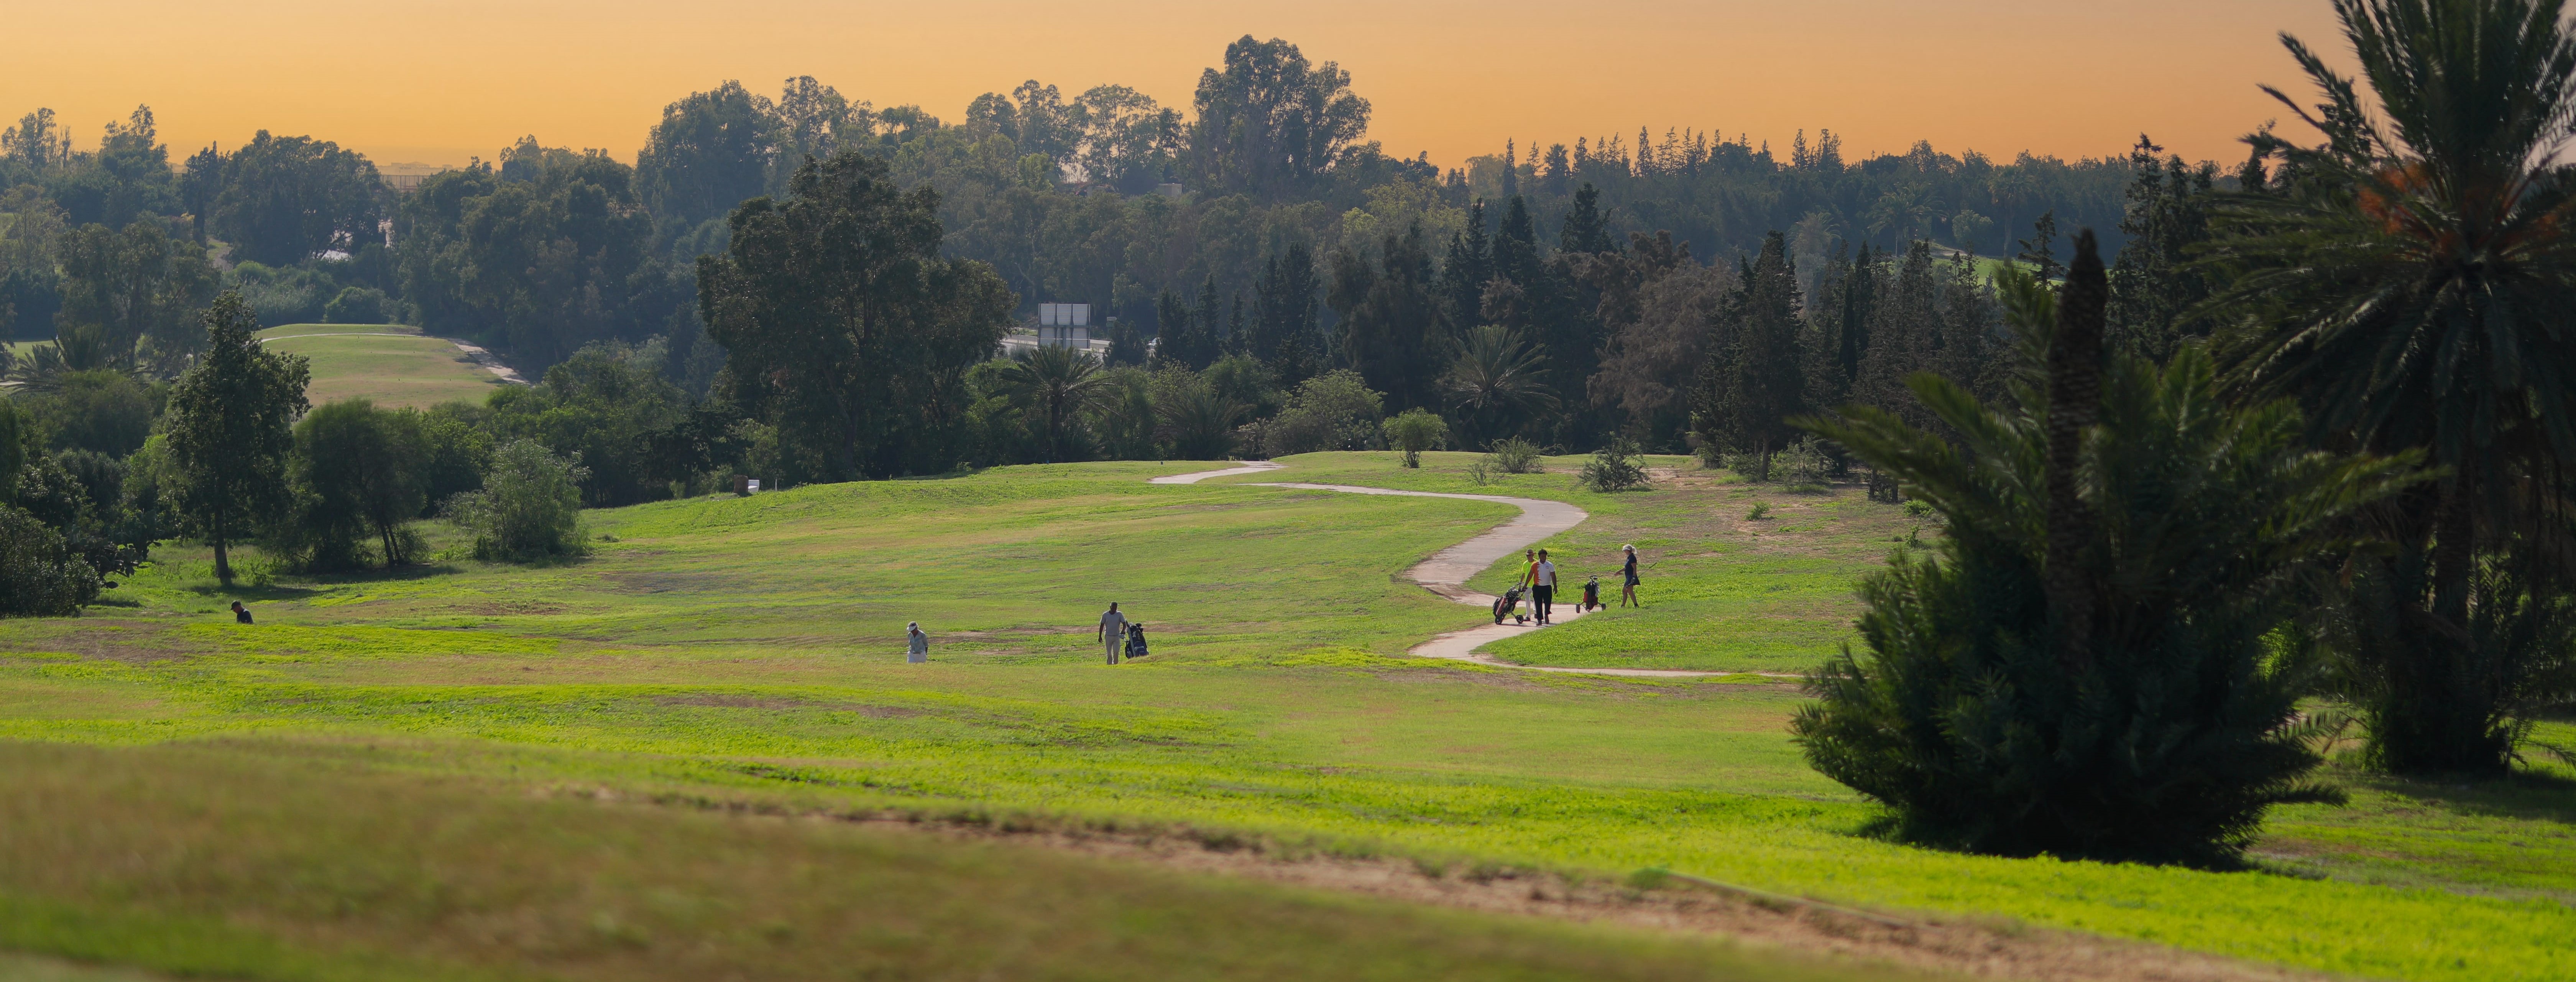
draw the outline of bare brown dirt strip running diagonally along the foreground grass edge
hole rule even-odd
[[[902,825],[927,835],[1007,838],[1118,861],[1162,863],[1193,874],[1247,876],[1288,887],[1340,889],[1419,905],[1507,915],[1613,923],[1625,928],[1723,936],[1837,961],[1893,964],[1981,979],[2099,982],[2324,982],[2329,974],[2233,961],[2143,941],[2097,938],[2007,920],[1839,910],[1793,897],[1759,900],[1667,879],[1636,889],[1605,879],[1569,879],[1528,869],[1435,869],[1404,858],[1275,858],[1234,835],[1121,838],[1079,833],[1010,833],[994,827]]]

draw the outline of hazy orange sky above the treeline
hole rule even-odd
[[[1370,137],[1435,162],[1651,126],[1929,139],[2009,160],[2123,152],[2138,131],[2236,160],[2303,93],[2275,34],[2342,52],[2326,0],[1154,3],[1154,0],[13,0],[8,119],[52,106],[77,144],[149,103],[185,155],[255,129],[376,162],[453,165],[520,134],[634,160],[662,106],[739,77],[814,75],[876,106],[961,119],[1036,77],[1133,85],[1188,108],[1226,41],[1340,62]]]

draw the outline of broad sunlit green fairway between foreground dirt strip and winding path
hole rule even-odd
[[[1461,464],[1450,459],[1417,474],[1368,454],[1293,464],[1280,477],[1463,482],[1443,472]],[[0,624],[0,650],[64,652],[0,657],[0,735],[178,740],[260,760],[376,747],[366,768],[412,781],[1193,825],[1610,874],[1672,866],[2378,977],[2576,972],[2563,946],[2576,794],[2563,778],[2437,789],[2339,773],[2357,786],[2354,809],[2287,809],[2259,845],[2300,876],[1896,848],[1852,835],[1873,812],[1801,765],[1783,737],[1798,701],[1788,686],[1381,657],[1476,619],[1396,575],[1507,515],[1502,505],[1141,485],[1177,469],[1188,464],[1030,467],[644,505],[595,515],[621,541],[590,562],[291,582],[263,595],[255,629],[209,624],[222,603],[204,559],[170,552],[118,590],[126,608]],[[1484,490],[1548,487],[1561,477]],[[1651,588],[1677,590],[1690,564],[1674,552],[1708,570],[1741,557],[1685,549],[1705,534],[1692,521],[1741,518],[1731,492],[1577,497],[1600,528],[1566,539],[1589,570],[1618,539],[1669,523]],[[1826,503],[1839,523],[1886,518]],[[1837,544],[1832,523],[1777,521],[1806,531],[1762,536],[1847,557],[1844,577],[1875,557],[1862,549],[1875,526]],[[1741,562],[1731,575],[1757,575],[1759,562]],[[1087,624],[1110,595],[1157,626],[1157,662],[1095,665]],[[896,660],[907,619],[935,631],[938,662]],[[1561,634],[1592,624],[1620,621]],[[1687,634],[1687,619],[1672,624]],[[31,889],[26,876],[0,863],[0,889]]]

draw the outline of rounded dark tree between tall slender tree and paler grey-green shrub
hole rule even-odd
[[[417,415],[343,400],[296,423],[291,477],[312,500],[307,521],[330,523],[330,541],[340,528],[374,534],[389,567],[412,559],[402,531],[428,505],[425,469]]]

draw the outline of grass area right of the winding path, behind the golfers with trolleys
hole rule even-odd
[[[1587,456],[1548,456],[1546,474],[1497,474],[1476,485],[1479,454],[1425,454],[1404,469],[1396,454],[1309,454],[1283,459],[1298,482],[1515,495],[1564,500],[1592,513],[1548,539],[1558,580],[1574,595],[1600,577],[1610,608],[1546,631],[1510,637],[1489,655],[1520,665],[1687,668],[1803,673],[1852,637],[1860,601],[1852,580],[1886,562],[1919,518],[1870,503],[1860,487],[1790,492],[1744,485],[1728,472],[1700,469],[1687,456],[1654,456],[1654,490],[1600,495],[1577,472]],[[1224,477],[1260,482],[1285,477]],[[1765,518],[1747,518],[1752,505]],[[1643,608],[1620,608],[1620,546],[1638,546]],[[1468,585],[1502,593],[1520,564],[1486,570]]]

